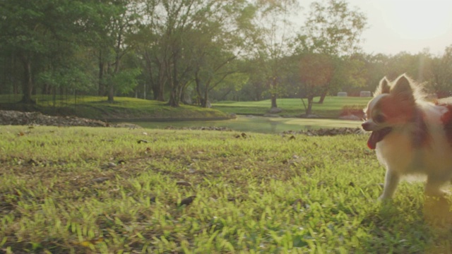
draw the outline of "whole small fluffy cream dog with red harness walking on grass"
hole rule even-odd
[[[386,167],[383,194],[391,198],[404,176],[427,177],[425,193],[442,196],[452,178],[452,104],[427,102],[407,75],[383,78],[364,109],[367,146]]]

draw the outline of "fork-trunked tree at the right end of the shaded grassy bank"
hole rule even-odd
[[[246,1],[215,1],[206,20],[191,30],[194,84],[201,107],[208,106],[209,93],[230,80],[242,83],[239,58],[251,48],[251,18],[255,8]],[[215,17],[215,18],[209,18]]]

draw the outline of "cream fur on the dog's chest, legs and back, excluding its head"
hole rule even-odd
[[[385,95],[377,95],[374,100],[381,99],[382,96]],[[383,194],[379,198],[381,200],[391,198],[400,179],[406,176],[427,176],[427,195],[444,195],[441,187],[452,178],[452,147],[441,122],[441,116],[448,109],[423,99],[416,99],[416,104],[424,114],[429,142],[427,145],[413,147],[412,130],[415,126],[414,123],[407,123],[393,126],[391,133],[376,144],[376,155],[386,167]],[[367,111],[376,110],[374,107],[376,102],[369,102]]]

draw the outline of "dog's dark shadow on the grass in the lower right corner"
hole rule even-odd
[[[452,253],[451,207],[448,198],[382,202],[362,221],[369,229],[362,246],[368,253]]]

